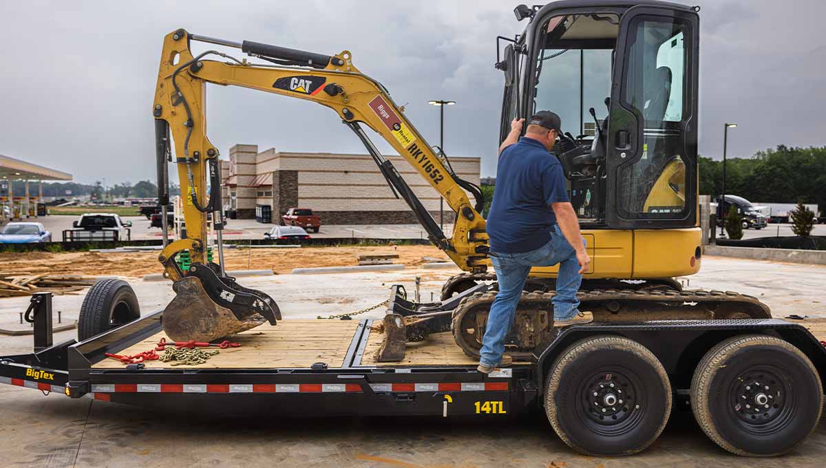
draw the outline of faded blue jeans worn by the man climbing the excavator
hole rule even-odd
[[[585,239],[582,239],[585,244]],[[498,366],[505,352],[505,337],[516,314],[516,305],[528,279],[530,267],[550,267],[559,263],[557,294],[553,296],[553,319],[567,320],[577,314],[577,290],[582,284],[577,253],[554,225],[551,240],[536,250],[525,253],[493,253],[491,263],[496,268],[499,292],[487,316],[485,337],[482,338],[483,366]]]

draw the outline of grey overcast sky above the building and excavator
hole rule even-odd
[[[482,175],[494,175],[503,82],[493,69],[495,38],[524,28],[514,6],[2,2],[0,154],[72,173],[78,182],[154,179],[150,106],[159,53],[164,35],[183,27],[325,54],[351,50],[363,73],[397,103],[409,103],[406,115],[430,144],[439,143],[439,113],[427,101],[458,102],[445,112],[445,150],[481,156]],[[826,144],[826,2],[700,6],[700,153],[721,154],[725,121],[739,125],[729,131],[730,156]],[[236,143],[363,153],[332,111],[311,102],[231,87],[211,87],[207,102],[208,135],[224,158]]]

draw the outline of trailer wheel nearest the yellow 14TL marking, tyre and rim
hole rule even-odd
[[[630,455],[665,428],[672,390],[646,347],[623,337],[586,338],[553,363],[545,413],[568,447],[586,455]]]

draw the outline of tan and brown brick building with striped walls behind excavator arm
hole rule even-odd
[[[422,204],[439,219],[439,193],[400,156],[386,156]],[[451,157],[459,177],[479,184],[480,158]],[[239,218],[254,218],[256,205],[310,208],[325,225],[415,224],[404,200],[396,200],[368,154],[295,153],[236,144],[221,161],[224,200]],[[453,220],[445,206],[444,220]]]

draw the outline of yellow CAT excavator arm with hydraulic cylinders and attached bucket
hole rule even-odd
[[[240,49],[266,63],[250,64],[247,59],[237,59],[216,50],[193,55],[190,49],[193,40]],[[164,314],[164,328],[168,334],[168,322],[177,322],[180,325],[176,332],[178,338],[184,338],[182,334],[192,336],[187,330],[195,327],[205,330],[209,335],[198,335],[199,339],[215,339],[228,334],[227,332],[251,328],[250,323],[246,323],[250,319],[259,324],[263,323],[263,317],[274,324],[276,316],[280,316],[277,305],[266,295],[260,291],[245,290],[235,284],[232,278],[225,277],[222,261],[221,265],[207,262],[205,246],[208,243],[209,215],[211,214],[213,227],[219,234],[220,257],[220,233],[223,227],[218,149],[211,144],[206,134],[207,83],[248,87],[330,107],[363,142],[394,194],[406,201],[427,230],[430,241],[463,270],[486,270],[488,247],[485,220],[480,215],[481,191],[453,172],[444,153],[434,152],[415,126],[407,120],[404,109],[396,106],[382,84],[354,66],[352,54],[348,50],[335,55],[314,54],[251,41],[238,43],[193,35],[182,29],[173,31],[164,38],[153,106],[159,178],[163,178],[166,162],[172,154],[171,145],[174,144],[174,162],[178,167],[178,179],[184,197],[183,215],[188,234],[188,239],[169,243],[159,257],[164,264],[164,275],[174,281],[173,287],[178,292]],[[392,163],[379,153],[363,126],[382,135],[444,197],[456,213],[453,233],[449,238]],[[163,199],[166,184],[165,181],[159,182],[159,187],[164,185],[159,188],[159,198]],[[210,187],[208,197],[207,185]],[[473,203],[466,191],[474,196]],[[192,262],[192,267],[186,273],[174,261],[175,256],[183,250],[189,251]],[[199,287],[204,291],[200,291]],[[188,291],[188,295],[182,297],[182,291]],[[243,298],[244,294],[247,295],[244,305],[233,303],[234,300]],[[178,299],[181,300],[174,305]],[[210,300],[216,306],[230,310],[235,319],[244,325],[219,326],[221,317],[226,316],[225,310],[218,310],[216,319],[209,323],[192,311],[193,302],[211,305]],[[273,313],[262,307],[261,301],[266,305],[272,303]],[[258,305],[259,308],[249,309],[252,305]],[[231,324],[231,320],[228,323]],[[170,324],[169,328],[173,325]],[[172,336],[170,338],[178,339]]]

